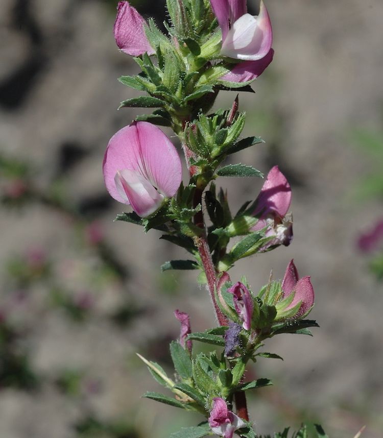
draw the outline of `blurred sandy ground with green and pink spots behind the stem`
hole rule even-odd
[[[132,2],[133,3],[133,2]],[[164,20],[163,1],[135,1]],[[248,0],[250,12],[258,2]],[[0,9],[0,436],[166,438],[201,418],[140,399],[158,391],[135,352],[169,369],[176,308],[194,331],[212,325],[195,272],[160,233],[115,222],[104,187],[109,138],[138,92],[114,43],[116,2],[2,0]],[[293,188],[295,237],[231,272],[254,290],[294,258],[316,291],[314,337],[280,335],[260,359],[274,387],[249,401],[260,434],[321,422],[330,437],[383,435],[383,3],[268,0],[275,58],[240,96],[244,136],[266,144],[234,159]],[[219,96],[229,107],[235,92]],[[168,134],[171,134],[168,132]],[[186,178],[186,173],[184,174]],[[218,180],[233,209],[256,179]],[[125,209],[126,210],[126,209]],[[127,210],[126,210],[127,211]]]

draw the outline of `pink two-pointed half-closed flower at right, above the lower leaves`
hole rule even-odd
[[[311,284],[310,277],[303,277],[299,279],[294,260],[290,261],[284,274],[282,291],[283,299],[289,297],[293,292],[295,292],[293,301],[283,310],[292,309],[299,302],[301,302],[299,310],[295,315],[297,318],[304,315],[310,308],[312,308],[314,304],[314,288]]]

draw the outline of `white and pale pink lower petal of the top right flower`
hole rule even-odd
[[[221,54],[234,59],[256,61],[265,57],[273,43],[270,17],[261,1],[259,15],[244,14],[222,39]]]

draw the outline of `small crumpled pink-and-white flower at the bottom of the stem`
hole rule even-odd
[[[231,412],[224,399],[213,398],[213,408],[210,412],[209,426],[212,432],[224,438],[232,438],[237,429],[246,427],[246,423]]]

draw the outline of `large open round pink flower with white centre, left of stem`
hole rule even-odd
[[[109,140],[103,163],[111,197],[141,217],[154,213],[181,183],[181,161],[166,135],[147,121],[133,122]]]

